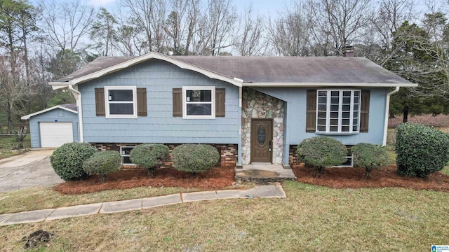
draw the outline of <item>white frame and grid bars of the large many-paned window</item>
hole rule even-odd
[[[319,131],[318,130],[318,113],[319,113],[319,92],[326,91],[326,131]],[[330,92],[332,91],[338,91],[339,92],[339,102],[338,102],[338,131],[331,132],[330,131],[330,99],[331,95]],[[349,132],[342,131],[342,104],[343,104],[343,91],[351,91],[351,111],[350,117],[349,117]],[[357,130],[352,130],[353,128],[353,119],[354,119],[354,92],[358,91],[358,127]],[[360,113],[361,113],[361,99],[362,99],[362,92],[361,90],[316,90],[316,120],[315,120],[315,132],[316,134],[358,134],[360,132]]]

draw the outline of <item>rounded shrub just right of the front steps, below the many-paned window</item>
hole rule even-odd
[[[315,168],[314,176],[323,174],[326,167],[346,162],[347,148],[332,137],[311,137],[304,139],[296,150],[297,156],[306,167]]]

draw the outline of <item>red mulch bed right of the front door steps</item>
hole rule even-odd
[[[415,190],[437,190],[449,193],[449,176],[436,172],[428,179],[398,176],[396,165],[389,165],[371,172],[371,179],[364,179],[364,169],[356,167],[326,168],[324,174],[314,178],[314,169],[304,165],[292,165],[297,181],[330,188],[384,188],[401,187]]]

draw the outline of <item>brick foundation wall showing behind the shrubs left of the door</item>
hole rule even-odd
[[[109,144],[109,143],[91,143],[91,145],[95,146],[98,151],[120,151],[120,146],[137,146],[139,144]],[[171,152],[176,146],[180,144],[165,144],[170,148],[170,157]],[[218,153],[220,153],[220,165],[222,166],[231,166],[236,165],[237,163],[237,144],[210,144],[217,148]],[[170,167],[172,165],[172,161],[170,158],[163,162],[161,167]],[[135,166],[127,166],[125,168],[132,168]]]

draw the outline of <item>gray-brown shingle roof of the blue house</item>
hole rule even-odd
[[[244,83],[410,83],[365,57],[170,57]],[[98,57],[58,81],[95,73],[128,59],[133,57]]]

